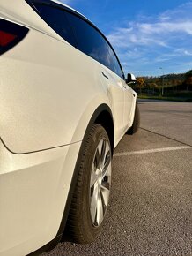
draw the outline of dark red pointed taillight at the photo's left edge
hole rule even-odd
[[[16,46],[28,31],[24,26],[0,19],[0,55]]]

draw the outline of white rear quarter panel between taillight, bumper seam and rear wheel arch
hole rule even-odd
[[[108,104],[100,65],[33,29],[1,56],[0,66],[0,135],[14,153],[83,139],[94,109]]]

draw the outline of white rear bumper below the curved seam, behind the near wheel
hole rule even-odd
[[[0,255],[26,255],[57,236],[81,142],[12,154],[0,142]]]

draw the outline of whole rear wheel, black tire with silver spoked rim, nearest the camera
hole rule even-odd
[[[106,130],[100,124],[93,124],[85,134],[81,149],[67,230],[74,242],[85,244],[98,236],[107,213],[112,151]]]

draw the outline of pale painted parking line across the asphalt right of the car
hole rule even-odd
[[[190,147],[190,146],[161,147],[161,148],[153,148],[153,149],[147,149],[147,150],[114,153],[114,156],[126,156],[126,155],[134,155],[134,154],[151,154],[151,153],[157,153],[157,152],[166,152],[166,151],[174,151],[174,150],[189,149],[189,148],[192,148],[192,147]]]

